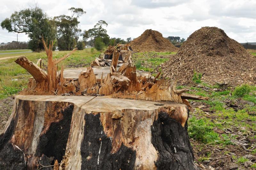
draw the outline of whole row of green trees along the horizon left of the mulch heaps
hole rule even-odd
[[[108,26],[106,21],[100,20],[96,25],[88,30],[79,28],[79,18],[86,13],[82,8],[71,7],[68,9],[70,15],[60,15],[53,18],[48,17],[42,9],[34,8],[15,11],[10,18],[1,22],[1,27],[14,33],[26,33],[28,38],[27,48],[33,51],[44,49],[42,37],[49,44],[54,42],[54,48],[59,50],[71,50],[75,47],[84,49],[85,43],[89,41],[97,50],[102,50],[105,46],[116,45],[117,43],[129,43],[121,38],[110,38],[105,29]],[[82,40],[79,37],[83,37]]]

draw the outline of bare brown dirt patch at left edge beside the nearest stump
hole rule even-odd
[[[0,100],[0,134],[4,130],[4,126],[8,121],[14,104],[14,96]]]

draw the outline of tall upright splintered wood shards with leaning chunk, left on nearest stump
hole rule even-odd
[[[47,74],[37,66],[37,64],[40,62],[41,66],[41,61],[42,59],[39,59],[37,64],[29,61],[25,56],[19,57],[15,62],[19,64],[21,67],[26,69],[34,78],[29,79],[28,83],[28,89],[23,90],[21,92],[22,94],[37,94],[37,95],[42,95],[42,94],[60,94],[60,92],[76,92],[76,86],[72,81],[64,83],[64,78],[63,78],[63,67],[61,68],[61,74],[60,77],[57,77],[57,65],[60,63],[62,60],[67,58],[69,55],[71,55],[74,51],[76,51],[76,48],[73,49],[69,54],[61,57],[60,59],[56,60],[52,58],[52,47],[53,47],[53,41],[50,42],[49,48],[47,48],[44,38],[42,39],[45,53],[48,57],[48,63],[47,63]],[[34,82],[36,81],[36,82]]]

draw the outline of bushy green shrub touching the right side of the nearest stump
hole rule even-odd
[[[219,135],[212,130],[212,126],[204,119],[189,119],[188,134],[190,138],[195,138],[205,144],[219,140]]]

